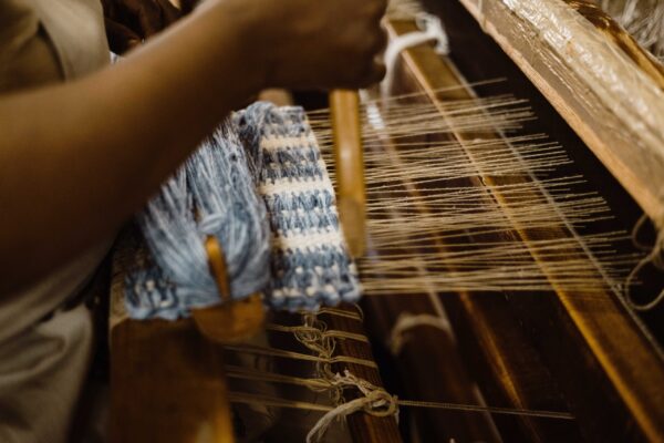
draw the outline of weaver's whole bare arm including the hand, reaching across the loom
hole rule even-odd
[[[1,97],[0,293],[112,235],[260,89],[377,80],[383,8],[210,0],[115,66]]]

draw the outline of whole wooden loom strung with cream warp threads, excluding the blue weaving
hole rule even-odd
[[[365,200],[332,168],[356,112],[309,113],[360,306],[271,312],[232,343],[215,311],[243,305],[115,317],[113,441],[664,439],[664,69],[590,2],[411,6],[391,40],[422,31],[424,8],[452,52],[404,49],[388,96],[364,97]],[[115,303],[133,246],[115,258]],[[228,293],[222,251],[206,250]]]

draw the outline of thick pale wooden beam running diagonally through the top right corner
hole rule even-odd
[[[663,228],[661,65],[584,2],[459,1]]]

